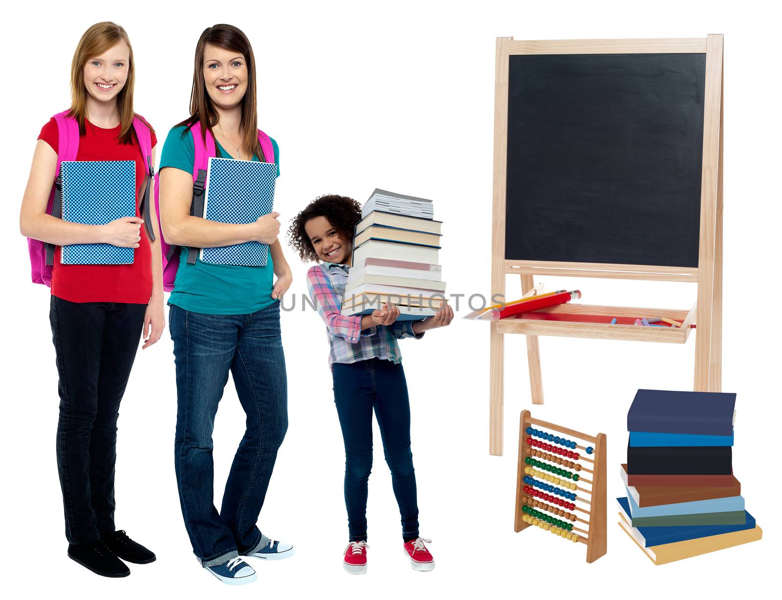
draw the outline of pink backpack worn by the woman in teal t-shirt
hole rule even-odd
[[[214,145],[214,138],[209,130],[206,130],[206,144],[201,134],[201,123],[195,123],[190,128],[193,137],[193,147],[195,148],[195,160],[193,161],[193,198],[190,203],[190,214],[203,218],[204,204],[204,184],[206,183],[206,168],[209,166],[209,159],[217,156],[217,150]],[[258,130],[258,141],[260,149],[264,152],[266,162],[274,162],[274,146],[271,145],[271,138]],[[157,212],[158,222],[160,222],[160,173],[155,175],[155,210]],[[177,277],[179,268],[178,246],[168,245],[163,236],[163,226],[160,226],[160,251],[163,253],[163,289],[171,291],[174,289],[174,280]],[[195,264],[199,248],[188,248],[188,264]]]

